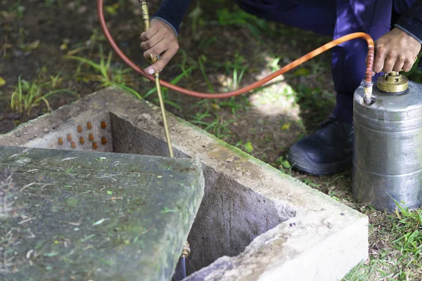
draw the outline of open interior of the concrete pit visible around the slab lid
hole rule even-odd
[[[151,118],[148,115],[143,117]],[[111,112],[62,127],[42,138],[35,138],[30,145],[167,156],[165,140]],[[177,148],[174,148],[174,155],[189,158]],[[255,237],[295,216],[295,210],[288,205],[257,194],[211,166],[204,166],[204,176],[205,195],[188,236],[191,245],[191,255],[186,260],[188,274],[208,266],[220,256],[237,256]]]

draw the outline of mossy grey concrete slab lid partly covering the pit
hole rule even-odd
[[[170,280],[204,192],[194,159],[0,146],[5,169],[0,280]]]

